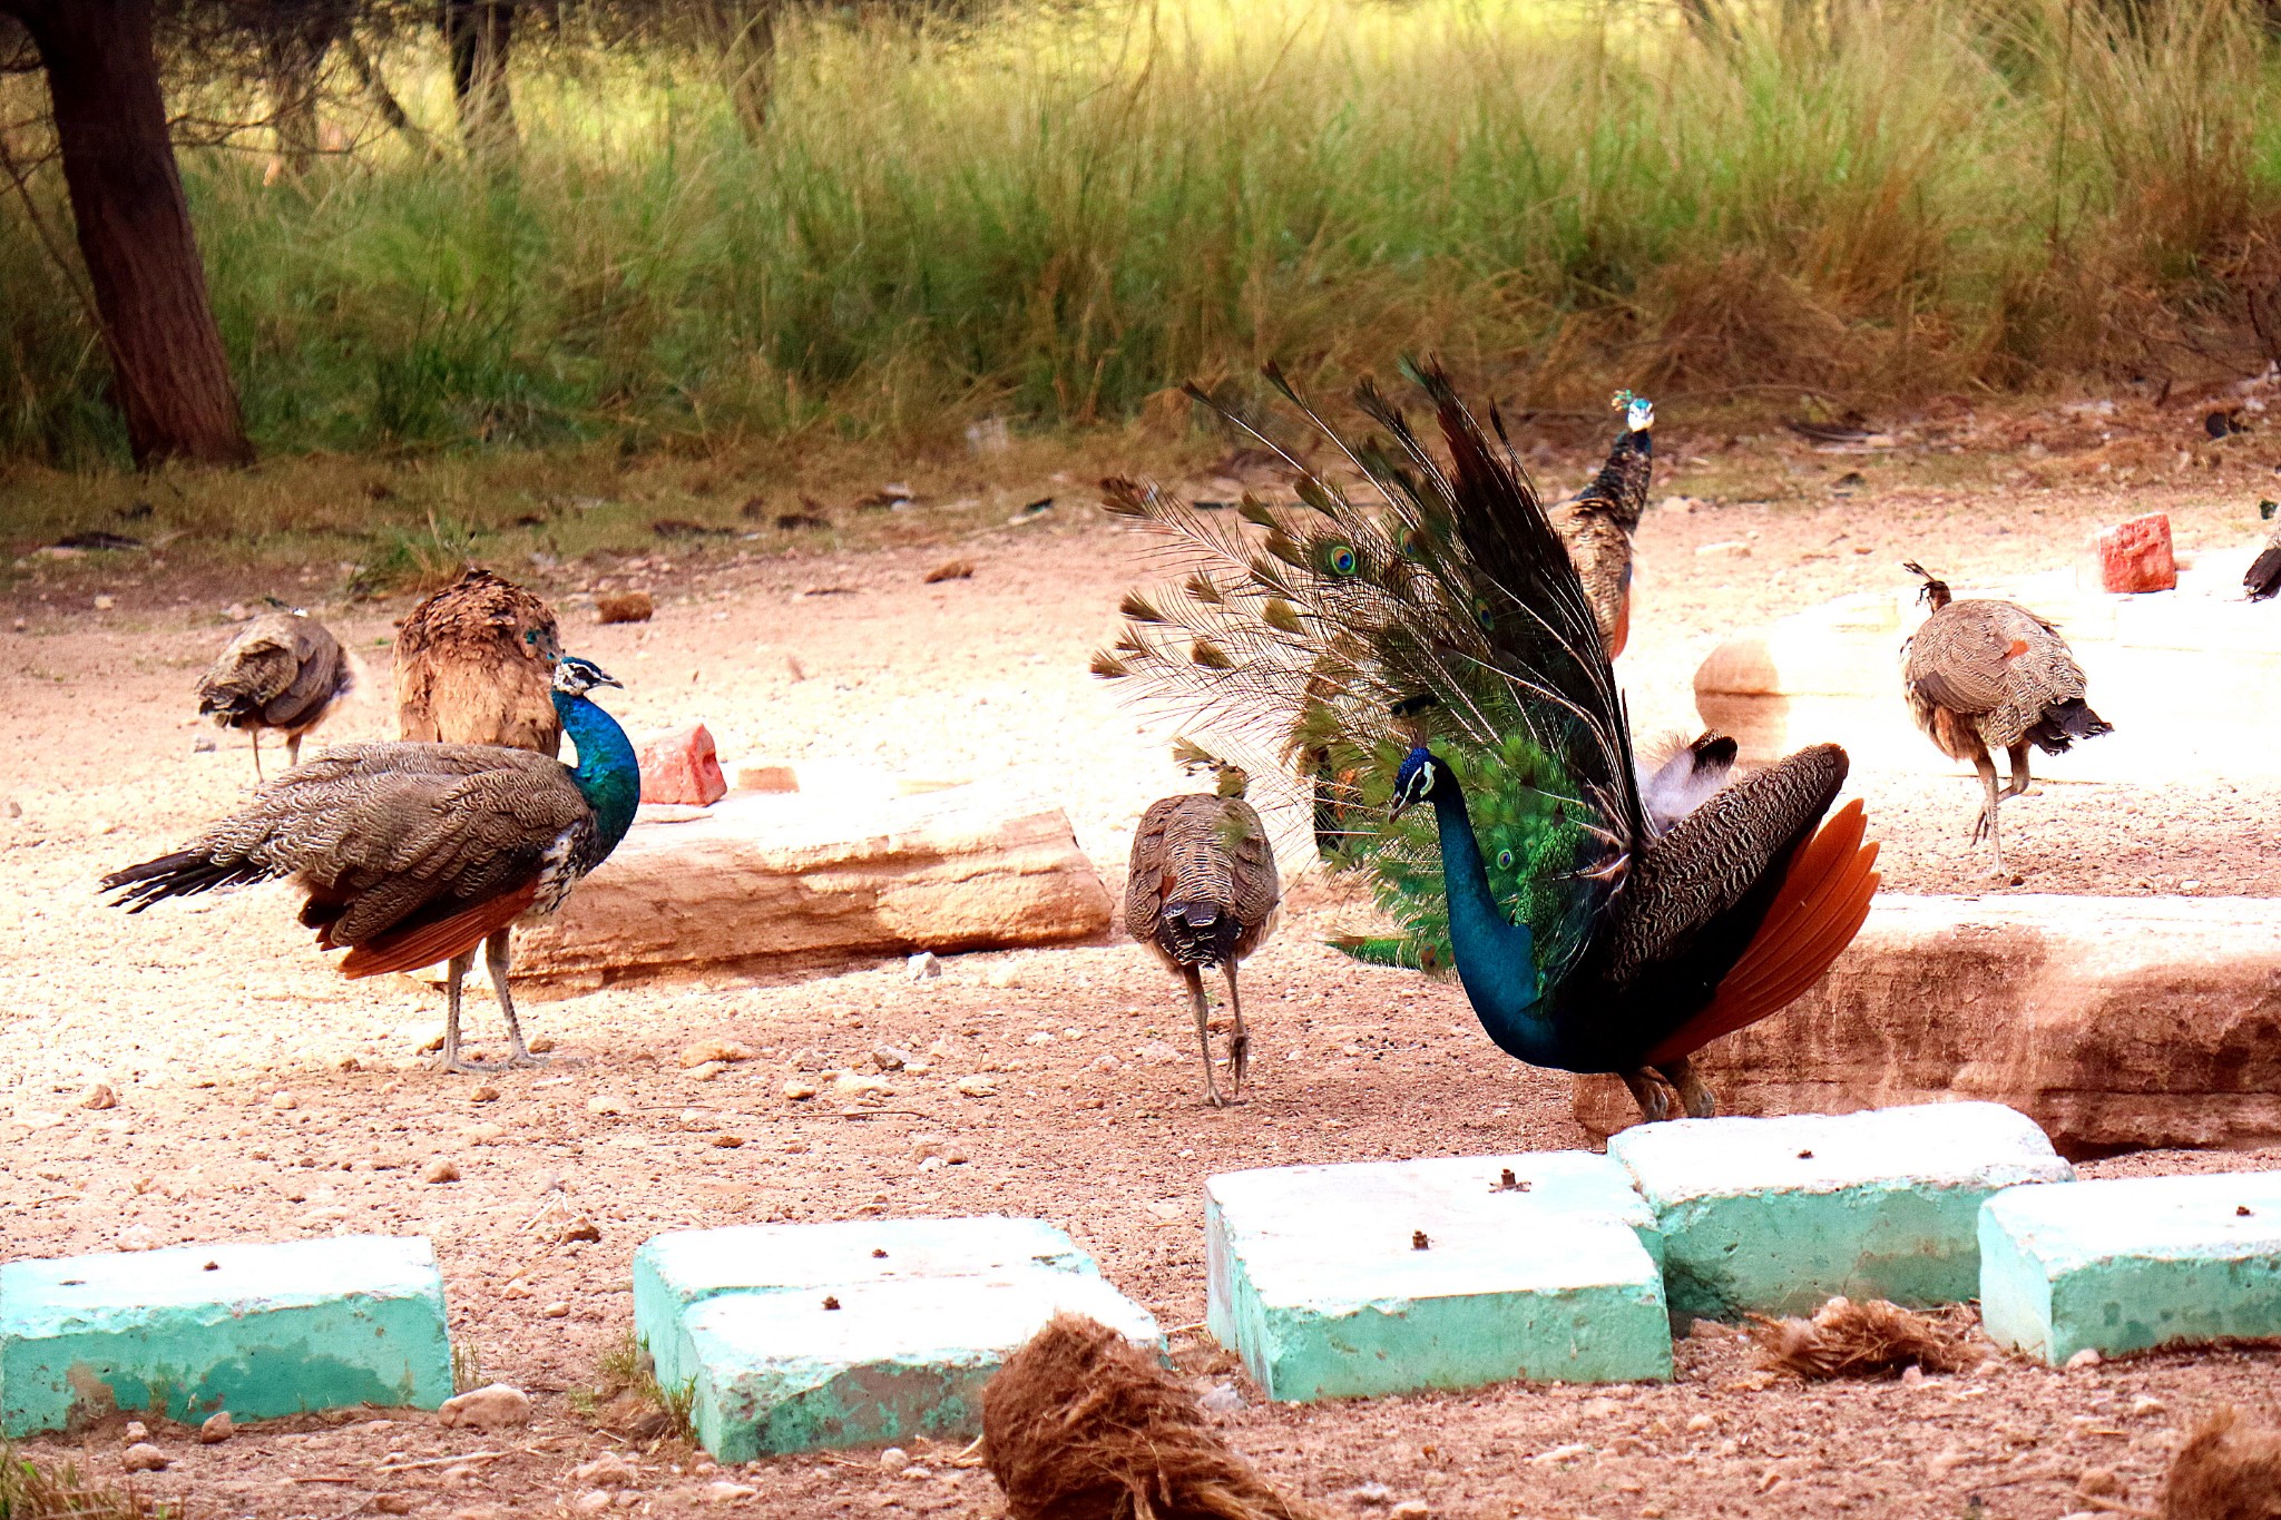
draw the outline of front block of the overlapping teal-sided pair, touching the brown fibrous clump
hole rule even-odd
[[[728,1463],[974,1436],[983,1383],[1063,1310],[1163,1349],[1102,1278],[1036,1267],[707,1299],[687,1315],[698,1445]]]

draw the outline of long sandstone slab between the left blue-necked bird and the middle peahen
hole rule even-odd
[[[1090,939],[1109,891],[1068,816],[999,786],[867,795],[730,793],[703,816],[636,820],[552,921],[516,934],[516,973],[844,959]]]

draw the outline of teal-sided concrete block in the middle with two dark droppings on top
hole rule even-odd
[[[1286,1401],[1667,1379],[1651,1244],[1629,1174],[1583,1151],[1229,1171],[1204,1315]]]

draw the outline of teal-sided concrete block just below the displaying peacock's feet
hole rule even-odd
[[[1642,1123],[1608,1155],[1656,1210],[1672,1310],[1711,1319],[1802,1315],[1832,1294],[1971,1299],[1980,1203],[2073,1178],[2000,1103]]]

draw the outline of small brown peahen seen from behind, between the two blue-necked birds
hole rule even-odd
[[[1188,987],[1195,1039],[1204,1048],[1204,1101],[1223,1108],[1241,1096],[1252,1055],[1236,962],[1250,957],[1275,930],[1282,882],[1268,832],[1243,800],[1243,770],[1188,745],[1179,754],[1191,768],[1213,770],[1218,788],[1161,798],[1140,814],[1125,884],[1125,930]],[[1227,978],[1227,1012],[1234,1021],[1227,1098],[1211,1080],[1211,1019],[1204,1005],[1204,971],[1211,966]]]

